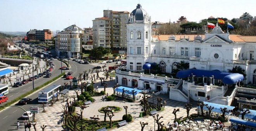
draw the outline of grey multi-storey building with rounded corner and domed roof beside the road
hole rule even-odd
[[[57,55],[80,58],[82,51],[83,29],[76,25],[71,25],[59,32],[55,39],[55,50]]]

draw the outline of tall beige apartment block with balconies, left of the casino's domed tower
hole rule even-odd
[[[93,21],[93,46],[127,48],[127,27],[130,13],[127,11],[104,10],[103,17]]]

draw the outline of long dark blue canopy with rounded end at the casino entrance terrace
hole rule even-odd
[[[198,69],[188,69],[182,70],[177,72],[177,77],[186,78],[189,75],[195,75],[197,77],[212,77],[214,79],[220,79],[225,84],[234,84],[236,82],[244,80],[244,76],[238,73],[227,73],[227,72],[220,72],[219,70],[207,71],[207,70],[198,70]]]

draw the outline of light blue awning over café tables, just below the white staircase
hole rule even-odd
[[[205,102],[205,101],[204,101],[204,104],[208,104],[208,106],[214,107],[213,110],[211,110],[212,112],[214,112],[214,113],[221,113],[221,114],[222,114],[222,112],[221,112],[220,107],[221,108],[225,108],[226,107],[227,111],[233,110],[235,108],[234,106],[226,106],[226,105],[215,104],[215,103]],[[199,107],[199,109],[201,109],[201,108]],[[206,106],[203,107],[203,110],[209,111]],[[225,114],[228,115],[229,113],[225,113]]]

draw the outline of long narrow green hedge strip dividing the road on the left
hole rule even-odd
[[[50,81],[47,81],[47,82],[43,83],[42,85],[40,85],[40,86],[38,86],[38,87],[35,87],[35,89],[33,89],[33,90],[31,90],[31,91],[28,91],[28,92],[22,94],[21,96],[15,98],[14,100],[12,100],[12,101],[10,101],[10,102],[7,102],[7,103],[4,104],[3,106],[10,106],[10,105],[14,104],[15,102],[19,101],[21,98],[26,97],[26,96],[32,94],[33,92],[36,92],[37,90],[41,89],[42,87],[44,87],[44,86],[50,84],[51,82],[57,80],[58,78],[62,77],[64,74],[65,74],[65,72],[63,72],[62,74],[59,74],[59,76],[56,76],[56,77],[54,77],[53,79],[51,79]],[[5,108],[5,107],[3,107],[3,106],[0,107],[0,111]]]

